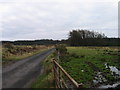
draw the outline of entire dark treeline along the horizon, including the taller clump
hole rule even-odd
[[[2,41],[14,45],[55,45],[67,44],[69,46],[120,46],[120,38],[108,38],[104,33],[89,30],[72,30],[66,40],[21,40],[21,41]]]

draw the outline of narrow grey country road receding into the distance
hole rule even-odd
[[[50,49],[2,68],[2,88],[29,88],[43,72],[41,61],[55,49]]]

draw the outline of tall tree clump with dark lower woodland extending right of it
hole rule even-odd
[[[70,46],[120,46],[120,38],[107,38],[105,34],[89,30],[69,32]]]

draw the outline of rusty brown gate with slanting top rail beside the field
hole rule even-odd
[[[54,70],[54,80],[56,88],[82,88],[82,84],[78,84],[63,68],[60,66],[55,59],[53,59],[53,70]],[[66,82],[68,81],[69,82]]]

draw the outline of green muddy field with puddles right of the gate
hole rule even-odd
[[[63,68],[84,87],[113,84],[120,79],[118,47],[67,47]],[[118,71],[117,71],[118,70]]]

